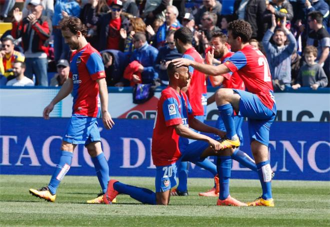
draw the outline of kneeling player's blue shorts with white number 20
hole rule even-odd
[[[176,185],[177,166],[181,161],[203,161],[205,158],[200,157],[203,151],[209,146],[207,142],[195,140],[186,146],[186,149],[181,151],[180,158],[170,164],[156,166],[155,188],[156,192],[167,191]]]

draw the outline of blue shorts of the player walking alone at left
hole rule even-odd
[[[101,141],[96,117],[73,114],[68,122],[63,140],[72,144],[89,144]]]

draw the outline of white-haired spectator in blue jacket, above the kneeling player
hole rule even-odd
[[[177,30],[181,27],[177,20],[178,10],[174,5],[167,5],[165,12],[165,22],[158,28],[156,33],[156,47],[165,45],[166,33],[170,30]]]

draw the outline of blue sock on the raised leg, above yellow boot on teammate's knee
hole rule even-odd
[[[219,110],[227,132],[226,137],[231,139],[231,137],[236,134],[235,121],[233,119],[233,108],[231,104],[224,104],[217,106],[217,109]]]

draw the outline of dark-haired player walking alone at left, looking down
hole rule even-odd
[[[64,18],[60,22],[62,36],[71,49],[70,73],[57,95],[43,110],[43,118],[49,119],[54,105],[71,91],[73,95],[72,116],[67,124],[61,143],[61,156],[47,186],[29,189],[29,192],[48,201],[56,198],[56,189],[69,170],[74,147],[84,144],[94,164],[102,192],[88,203],[102,203],[103,193],[109,181],[109,167],[102,152],[96,115],[98,95],[101,101],[102,121],[109,129],[114,122],[107,111],[107,87],[102,58],[85,38],[86,27],[76,17]]]

